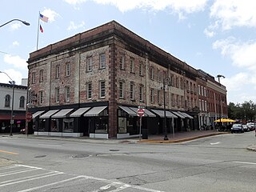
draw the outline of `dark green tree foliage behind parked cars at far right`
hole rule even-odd
[[[232,119],[254,121],[256,118],[256,104],[252,101],[237,103],[230,102],[228,105],[228,116]]]

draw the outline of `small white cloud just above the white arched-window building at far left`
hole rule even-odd
[[[9,69],[9,70],[3,70],[6,74],[9,75],[9,77],[14,80],[16,85],[21,85],[22,84],[22,73],[18,70],[14,69]],[[3,83],[9,83],[10,78],[6,74],[0,73],[0,82]]]

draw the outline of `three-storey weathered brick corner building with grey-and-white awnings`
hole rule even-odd
[[[35,134],[129,138],[198,129],[198,71],[118,22],[30,54]],[[165,92],[165,98],[163,90]],[[31,105],[30,105],[31,106]]]

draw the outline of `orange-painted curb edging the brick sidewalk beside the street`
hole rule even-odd
[[[177,139],[177,140],[168,140],[168,141],[157,141],[157,140],[143,140],[143,141],[138,141],[139,143],[178,143],[178,142],[188,142],[191,140],[195,140],[198,138],[207,138],[207,137],[211,137],[211,136],[215,136],[215,135],[219,135],[219,134],[230,134],[229,132],[222,132],[222,133],[214,133],[214,134],[206,134],[206,135],[198,135],[195,137],[191,137],[191,138],[181,138],[181,139]]]

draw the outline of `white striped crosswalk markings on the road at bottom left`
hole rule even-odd
[[[26,169],[26,170],[23,170],[22,168]],[[11,170],[11,169],[19,169],[19,170]],[[3,176],[6,176],[6,175],[20,174],[20,173],[25,173],[25,172],[29,172],[29,171],[38,171],[38,173],[23,177],[23,178],[20,178],[17,176],[17,178],[2,181],[2,182],[0,182],[0,188],[3,186],[16,185],[16,184],[22,183],[22,182],[28,183],[28,182],[38,180],[41,178],[49,178],[49,177],[55,177],[58,175],[65,175],[65,177],[64,176],[61,177],[63,180],[59,181],[59,179],[60,179],[59,177],[53,178],[53,179],[47,179],[48,181],[50,181],[50,183],[47,183],[45,185],[40,185],[39,184],[40,182],[34,182],[34,186],[30,186],[30,188],[19,190],[18,192],[29,192],[29,191],[33,191],[33,190],[39,190],[42,188],[47,189],[47,187],[49,187],[49,186],[55,186],[55,185],[61,184],[63,182],[70,182],[70,183],[80,182],[85,179],[98,181],[100,183],[106,183],[105,186],[101,186],[98,189],[94,189],[94,190],[92,190],[92,192],[100,192],[100,191],[105,191],[105,190],[107,190],[109,192],[118,192],[118,191],[126,190],[127,188],[131,188],[134,190],[149,191],[149,192],[164,192],[162,190],[154,190],[154,189],[150,189],[150,188],[146,188],[146,187],[142,187],[142,186],[133,186],[133,185],[126,184],[124,182],[118,182],[116,180],[111,180],[111,179],[106,179],[106,178],[96,178],[96,177],[87,176],[87,175],[78,175],[78,176],[73,175],[72,176],[70,174],[65,174],[60,171],[56,171],[56,170],[50,171],[50,170],[46,170],[44,168],[37,167],[37,166],[26,166],[26,165],[16,164],[14,166],[6,166],[5,169],[2,168],[2,170],[11,170],[11,171],[7,171],[6,173],[0,174],[0,178]],[[67,178],[67,176],[71,177],[71,178]],[[40,185],[40,186],[35,186],[35,185],[37,185],[36,183],[38,183],[38,185]],[[111,187],[114,189],[110,189]]]

